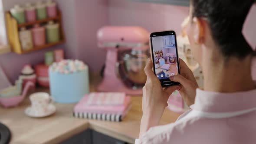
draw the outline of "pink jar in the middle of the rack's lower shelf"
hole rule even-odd
[[[45,28],[36,24],[32,29],[34,46],[43,46],[46,44]]]

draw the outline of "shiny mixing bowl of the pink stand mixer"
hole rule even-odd
[[[144,86],[147,80],[144,67],[149,57],[148,50],[132,50],[121,55],[121,60],[117,64],[117,74],[125,85],[132,86],[134,89]]]

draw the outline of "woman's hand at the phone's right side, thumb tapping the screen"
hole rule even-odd
[[[182,59],[179,59],[179,61],[181,75],[170,76],[170,80],[181,83],[179,92],[186,104],[190,106],[194,104],[198,85],[193,72],[187,67],[186,63]]]

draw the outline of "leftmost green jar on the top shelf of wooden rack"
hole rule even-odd
[[[17,20],[18,24],[26,22],[24,9],[19,5],[15,5],[14,8],[10,10],[10,13]]]

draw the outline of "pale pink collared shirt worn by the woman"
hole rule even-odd
[[[135,144],[256,144],[256,89],[197,89],[190,108],[175,123],[150,128]]]

